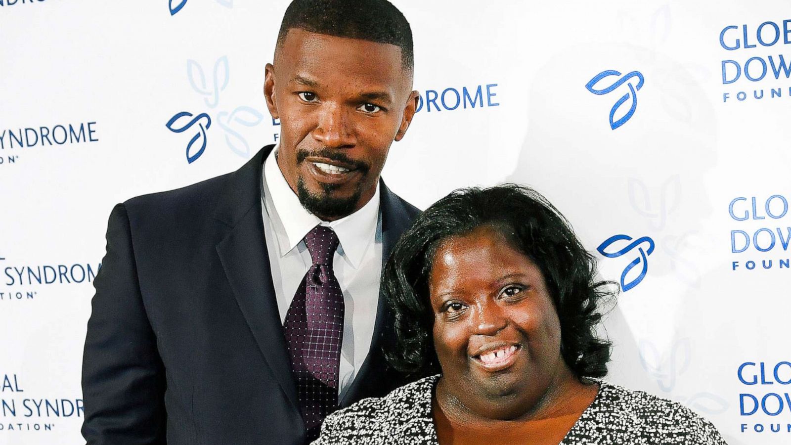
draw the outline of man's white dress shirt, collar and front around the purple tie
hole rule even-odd
[[[263,164],[263,231],[267,240],[274,294],[280,321],[285,323],[291,300],[312,265],[305,235],[313,227],[329,226],[339,248],[332,267],[343,291],[343,339],[339,369],[339,400],[346,394],[368,356],[379,303],[382,273],[382,230],[379,186],[358,211],[332,222],[305,210],[283,177],[275,146]]]

